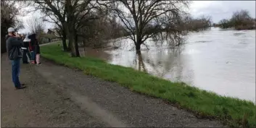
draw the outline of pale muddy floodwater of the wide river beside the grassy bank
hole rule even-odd
[[[255,30],[212,28],[190,33],[181,48],[157,46],[149,40],[150,51],[142,50],[141,54],[130,51],[133,43],[128,39],[112,42],[119,48],[86,52],[92,51],[90,55],[111,64],[255,102]]]

